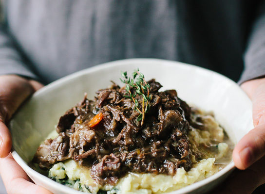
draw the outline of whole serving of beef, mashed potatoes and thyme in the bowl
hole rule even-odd
[[[213,113],[135,70],[59,118],[33,159],[47,176],[93,194],[170,192],[220,171],[233,144]]]

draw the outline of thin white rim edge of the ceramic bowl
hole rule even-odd
[[[82,75],[86,75],[88,73],[93,73],[95,71],[99,71],[101,69],[105,69],[105,68],[108,68],[110,66],[119,66],[119,65],[124,65],[124,64],[128,64],[128,63],[133,63],[133,64],[143,64],[143,63],[151,63],[151,62],[154,62],[154,63],[158,63],[158,62],[162,62],[163,65],[179,65],[181,66],[182,68],[194,68],[194,69],[197,69],[199,71],[203,71],[207,74],[213,74],[219,78],[222,78],[224,81],[228,81],[229,84],[233,85],[233,86],[236,86],[236,87],[239,87],[239,85],[230,80],[229,78],[227,78],[226,76],[220,74],[220,73],[217,73],[215,71],[212,71],[212,70],[209,70],[209,69],[206,69],[206,68],[203,68],[203,67],[199,67],[199,66],[196,66],[196,65],[190,65],[190,64],[186,64],[186,63],[182,63],[182,62],[178,62],[178,61],[171,61],[171,60],[165,60],[165,59],[155,59],[155,58],[132,58],[132,59],[122,59],[122,60],[116,60],[116,61],[112,61],[112,62],[107,62],[107,63],[103,63],[103,64],[100,64],[100,65],[95,65],[95,66],[92,66],[92,67],[89,67],[89,68],[86,68],[86,69],[83,69],[83,70],[80,70],[80,71],[77,71],[73,74],[70,74],[70,75],[67,75],[63,78],[60,78],[56,81],[53,81],[51,83],[49,83],[48,85],[44,86],[43,88],[41,88],[40,90],[38,90],[37,92],[35,92],[33,94],[32,97],[38,97],[39,95],[41,95],[42,93],[45,93],[46,91],[49,91],[49,90],[52,90],[54,87],[56,86],[59,86],[60,84],[63,84],[64,81],[68,81],[68,80],[71,80],[71,79],[75,79],[79,76],[82,76]],[[242,95],[244,95],[245,93],[242,91]],[[246,94],[245,94],[246,95]],[[247,97],[247,96],[246,96]],[[250,99],[249,99],[250,100]],[[35,171],[33,168],[31,168],[27,162],[25,162],[20,156],[19,154],[14,150],[12,151],[12,155],[15,159],[15,161],[22,167],[22,169],[27,173],[27,174],[30,174],[32,175],[33,177],[38,177],[38,179],[42,179],[42,181],[49,185],[49,186],[52,186],[53,188],[56,188],[57,190],[59,190],[60,192],[64,192],[64,193],[74,193],[74,194],[81,194],[83,192],[80,192],[80,191],[76,191],[72,188],[69,188],[65,185],[62,185],[60,183],[57,183],[56,181],[38,173],[37,171]],[[212,176],[208,177],[208,178],[205,178],[203,180],[200,180],[198,182],[195,182],[193,184],[190,184],[188,186],[185,186],[181,189],[178,189],[176,191],[172,191],[168,194],[183,194],[183,193],[186,193],[186,192],[191,192],[195,189],[198,189],[199,187],[201,186],[204,186],[218,178],[221,178],[223,175],[231,172],[232,170],[235,169],[235,164],[233,162],[233,160],[227,164],[226,167],[224,167],[222,170],[220,170],[219,172],[213,174]]]

